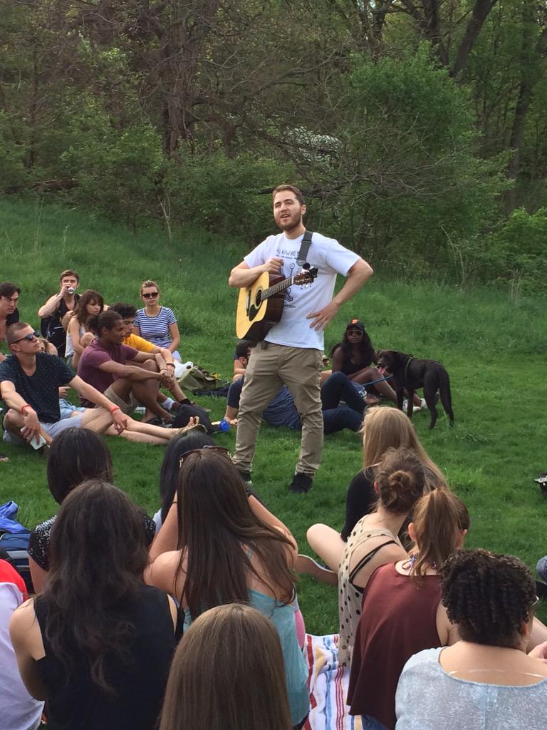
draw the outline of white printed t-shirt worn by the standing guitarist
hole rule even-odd
[[[289,239],[284,233],[268,236],[257,245],[244,261],[252,269],[265,264],[268,258],[279,256],[283,259],[281,274],[290,277],[300,273],[296,263],[302,236]],[[309,247],[307,261],[310,266],[317,266],[317,278],[309,286],[290,286],[285,291],[285,304],[281,321],[275,324],[265,337],[266,342],[288,347],[306,347],[323,350],[323,330],[310,328],[311,320],[306,316],[311,312],[319,312],[333,299],[336,274],[347,276],[349,269],[359,260],[357,253],[341,246],[333,238],[326,238],[314,233]]]

